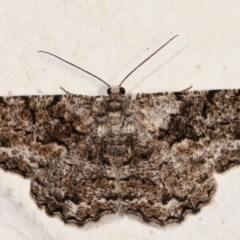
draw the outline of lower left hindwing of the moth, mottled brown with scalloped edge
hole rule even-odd
[[[84,136],[59,161],[36,172],[31,194],[38,206],[78,225],[118,211],[114,175],[102,161],[99,142]]]

